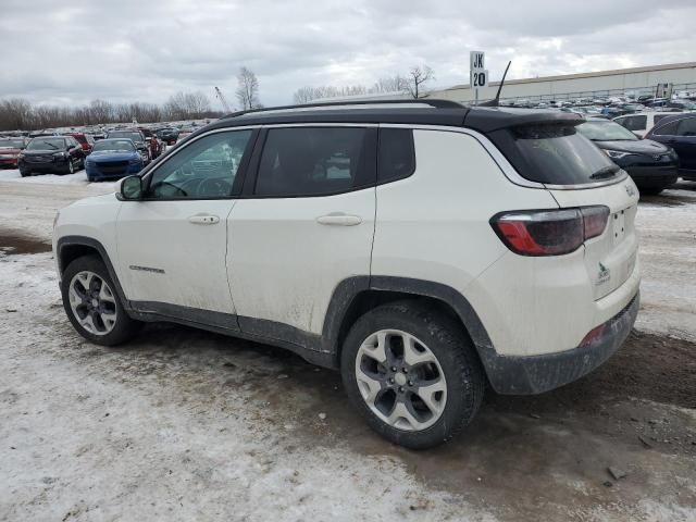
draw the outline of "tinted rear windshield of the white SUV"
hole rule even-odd
[[[550,185],[581,185],[614,177],[619,167],[573,125],[510,127],[490,138],[521,176]]]

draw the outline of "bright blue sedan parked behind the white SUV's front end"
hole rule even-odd
[[[127,138],[100,139],[85,160],[89,182],[117,179],[137,174],[142,166],[142,156],[133,140]]]

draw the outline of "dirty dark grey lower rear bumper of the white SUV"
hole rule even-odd
[[[486,357],[484,364],[493,388],[504,395],[533,395],[558,388],[602,364],[629,336],[638,314],[639,294],[609,321],[591,344],[543,356]]]

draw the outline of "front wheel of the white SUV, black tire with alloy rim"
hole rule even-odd
[[[114,346],[130,339],[140,323],[128,316],[103,261],[77,258],[63,272],[63,308],[79,335],[97,345]]]

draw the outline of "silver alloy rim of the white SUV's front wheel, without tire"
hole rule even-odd
[[[107,335],[116,324],[116,298],[107,282],[94,272],[78,272],[67,290],[73,315],[90,334]]]

